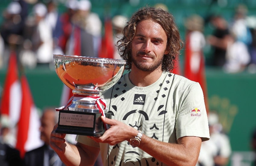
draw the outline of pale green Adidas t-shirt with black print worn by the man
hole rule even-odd
[[[125,74],[103,94],[112,119],[163,142],[176,143],[184,136],[209,139],[204,97],[199,83],[165,72],[150,86],[137,87]],[[123,141],[114,146],[77,136],[80,143],[100,147],[104,165],[165,165],[139,147]]]

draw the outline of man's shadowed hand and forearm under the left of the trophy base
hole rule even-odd
[[[58,124],[54,126],[51,133],[50,146],[64,164],[70,166],[94,165],[100,149],[82,143],[76,145],[67,143],[64,139],[66,134],[55,133],[57,126]]]

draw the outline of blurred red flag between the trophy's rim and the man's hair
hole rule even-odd
[[[100,58],[114,58],[113,29],[111,19],[105,19],[105,36],[101,41]]]

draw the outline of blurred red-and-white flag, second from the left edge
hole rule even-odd
[[[25,152],[42,145],[40,140],[40,120],[33,102],[29,84],[25,75],[21,76],[22,102],[20,120],[17,128],[16,148],[23,158]]]

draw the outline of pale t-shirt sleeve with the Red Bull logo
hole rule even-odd
[[[204,95],[199,83],[191,83],[181,97],[181,107],[176,116],[177,139],[185,136],[210,139]]]

